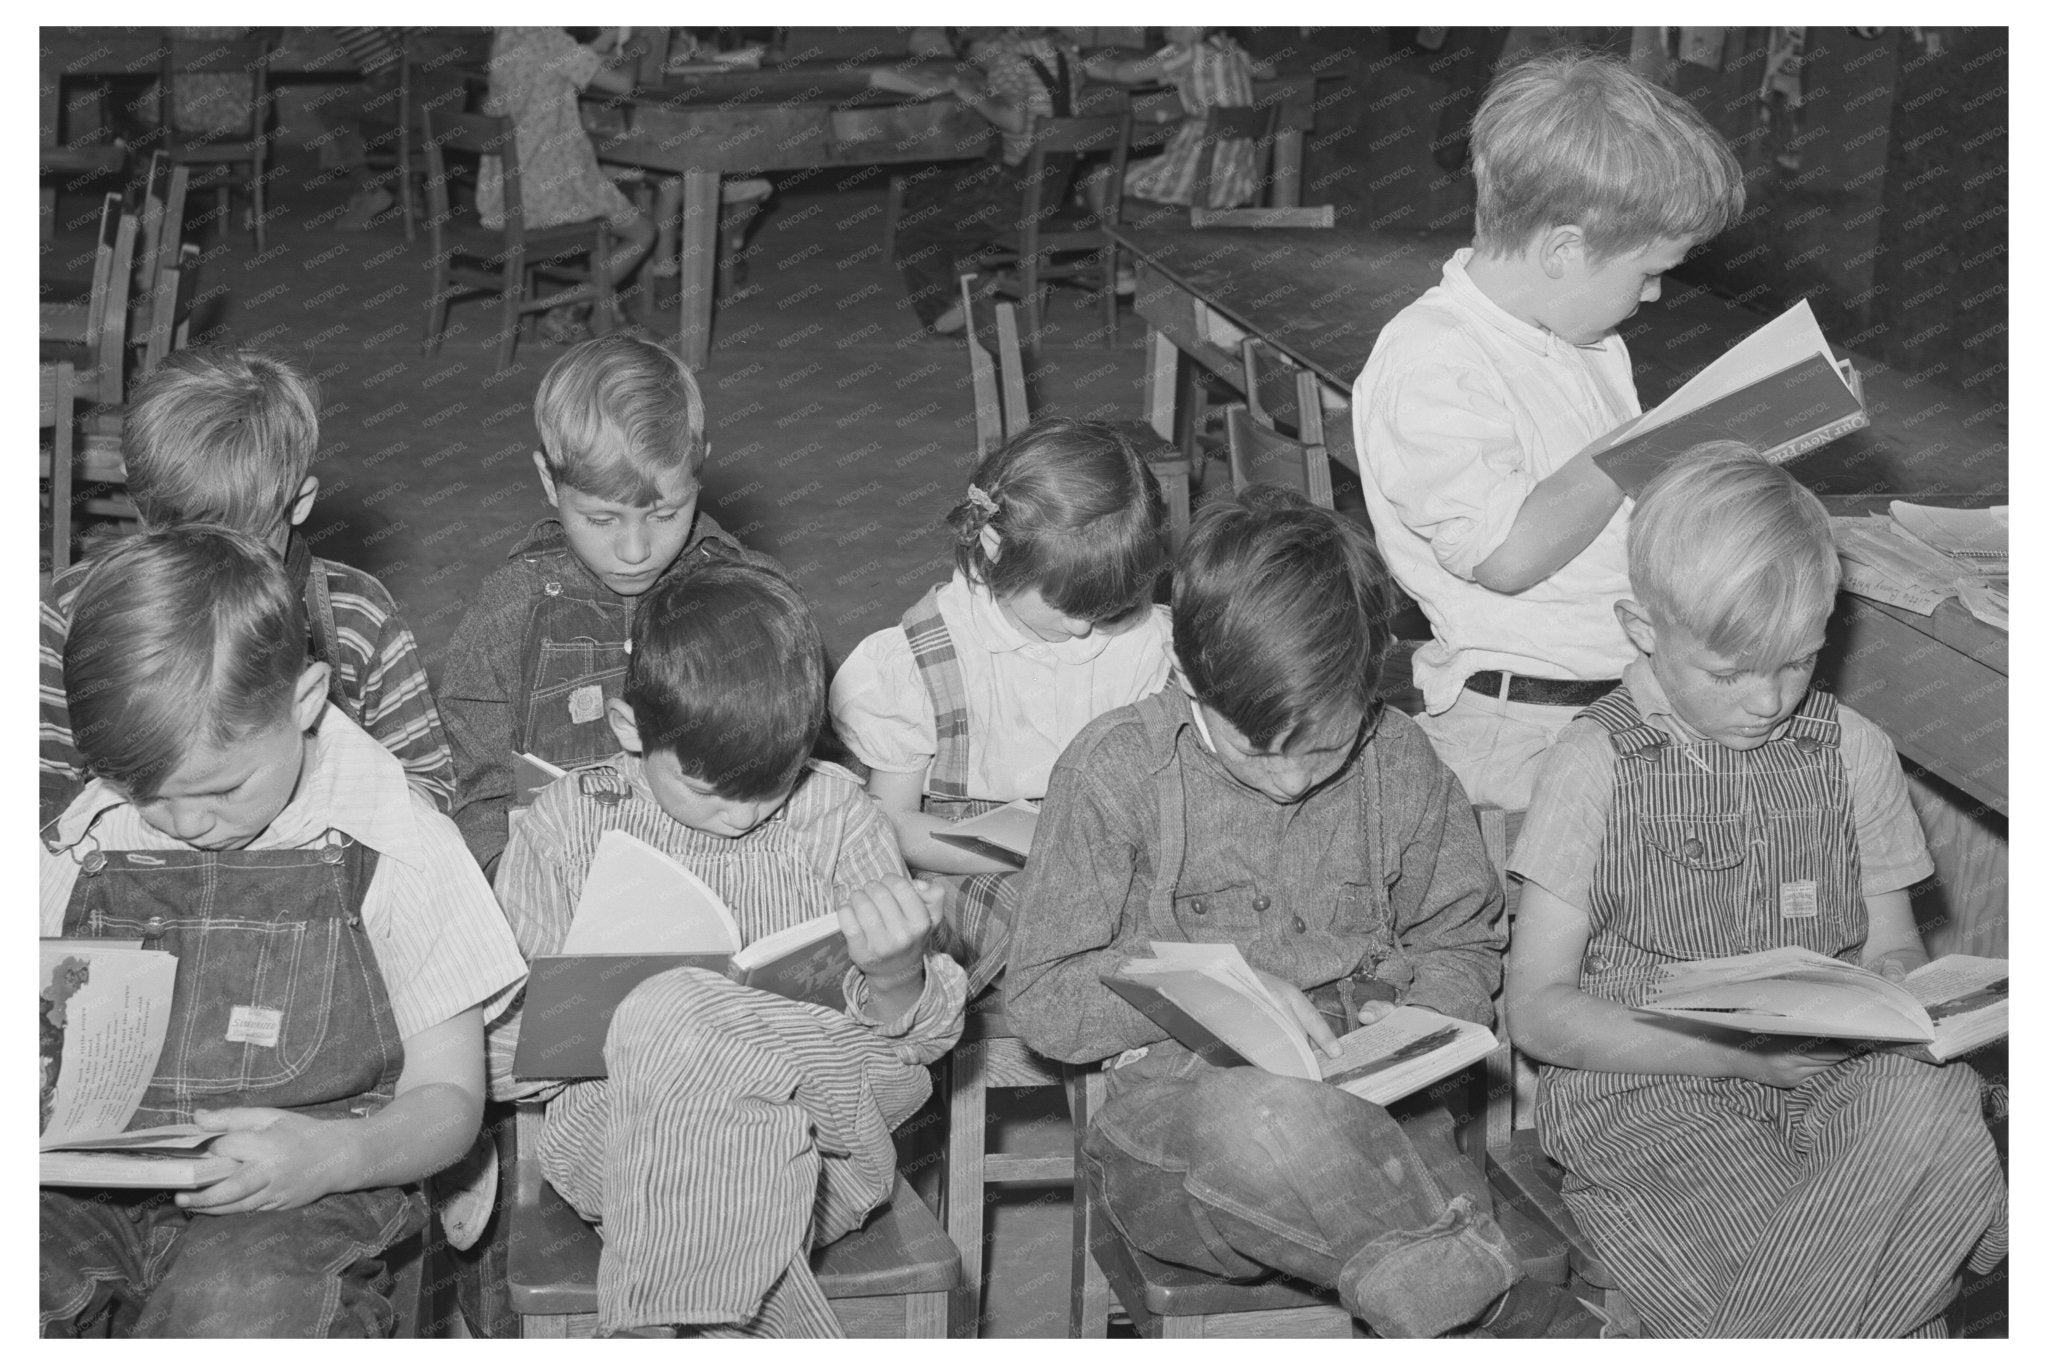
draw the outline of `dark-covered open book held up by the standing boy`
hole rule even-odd
[[[1866,426],[1855,370],[1835,358],[1800,299],[1591,450],[1593,463],[1634,495],[1706,440],[1741,440],[1782,465]]]

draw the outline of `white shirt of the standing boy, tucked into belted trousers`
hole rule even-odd
[[[1634,649],[1614,620],[1628,596],[1628,503],[1571,563],[1520,593],[1473,571],[1501,546],[1542,479],[1640,411],[1628,346],[1593,346],[1513,317],[1466,274],[1405,307],[1352,385],[1352,434],[1366,510],[1395,579],[1436,639],[1415,651],[1430,714],[1470,673],[1620,677]]]

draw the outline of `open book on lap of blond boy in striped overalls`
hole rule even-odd
[[[1749,1033],[1905,1044],[1946,1062],[2005,1038],[2005,958],[1937,958],[1903,984],[1810,948],[1665,968],[1640,1009]]]

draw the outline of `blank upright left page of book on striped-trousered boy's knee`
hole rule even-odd
[[[739,923],[700,876],[647,841],[606,829],[561,956],[733,954],[739,945]]]

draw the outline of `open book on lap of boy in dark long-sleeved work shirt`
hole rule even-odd
[[[1477,1023],[1403,1005],[1339,1038],[1337,1056],[1323,1056],[1235,943],[1155,939],[1151,950],[1151,958],[1124,962],[1104,984],[1217,1066],[1327,1081],[1391,1105],[1499,1046]]]

